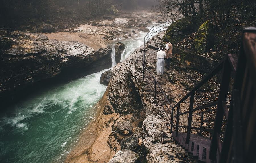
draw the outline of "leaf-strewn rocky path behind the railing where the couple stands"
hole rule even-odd
[[[147,44],[146,48],[146,65],[156,77],[157,81],[160,83],[161,87],[163,88],[164,92],[166,93],[167,98],[169,99],[172,106],[174,106],[177,102],[179,102],[206,74],[198,69],[193,69],[189,65],[184,65],[179,62],[180,55],[174,54],[174,61],[171,63],[169,69],[166,69],[164,75],[157,76],[156,75],[156,49],[162,45],[161,39],[164,35],[164,32],[157,35],[150,40],[150,43]],[[189,63],[189,62],[187,62]],[[209,82],[204,84],[199,91],[195,93],[195,102],[194,108],[202,106],[210,101],[217,100],[218,95],[218,79],[214,77]],[[181,103],[180,113],[189,110],[189,100],[185,100]],[[206,108],[214,109],[215,107]],[[177,113],[177,108],[174,109],[174,115]],[[200,120],[201,120],[201,111],[195,111],[192,119],[192,126],[193,127],[200,127]],[[214,119],[215,112],[205,113],[204,120],[212,120]],[[186,126],[187,125],[187,116],[182,115],[180,117],[180,125]],[[174,122],[176,119],[174,118]],[[213,123],[209,122],[207,124],[203,124],[204,127],[213,128]],[[186,132],[185,128],[180,128],[181,132]],[[199,131],[192,130],[192,133],[196,134]],[[205,136],[209,136],[209,133],[203,132]]]

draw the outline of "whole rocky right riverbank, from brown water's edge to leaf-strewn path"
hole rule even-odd
[[[160,33],[147,44],[146,65],[155,75],[171,105],[175,105],[194,84],[202,79],[204,72],[179,62],[180,55],[176,53],[171,68],[166,69],[164,75],[156,76],[156,49],[162,45],[163,36],[164,33]],[[99,103],[101,111],[94,125],[97,126],[95,127],[97,136],[94,142],[86,144],[87,148],[79,154],[76,148],[71,151],[66,162],[195,161],[174,142],[170,132],[170,122],[160,101],[154,99],[152,88],[148,82],[143,81],[142,56],[143,47],[140,47],[129,58],[112,68],[112,77]],[[185,63],[189,61],[188,58]],[[203,65],[203,67],[211,66]],[[201,100],[202,97],[207,96],[206,99],[209,101],[216,100],[215,95],[218,93],[219,86],[216,81],[212,79],[197,92],[194,107],[206,102]],[[181,112],[187,111],[188,108],[189,100],[186,100],[181,104]],[[174,109],[175,112],[177,110]],[[200,116],[197,112],[195,115],[192,125],[198,127]],[[206,115],[206,117],[209,116]],[[187,116],[180,116],[180,125],[186,123]],[[95,128],[91,130],[95,131]],[[185,131],[185,129],[181,128],[180,131]],[[196,132],[192,131],[192,133]],[[77,148],[81,149],[83,145],[84,143],[80,141]]]

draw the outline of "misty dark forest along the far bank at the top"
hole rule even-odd
[[[0,27],[18,28],[37,21],[91,19],[125,10],[150,9],[154,0],[2,0]]]

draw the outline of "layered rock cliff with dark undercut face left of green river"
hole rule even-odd
[[[13,39],[13,45],[1,56],[0,97],[15,96],[33,84],[55,79],[63,72],[64,78],[69,79],[84,72],[93,62],[101,59],[106,62],[110,51],[110,47],[95,51],[76,41],[57,41],[45,35],[22,34]],[[110,59],[108,64],[111,65]]]

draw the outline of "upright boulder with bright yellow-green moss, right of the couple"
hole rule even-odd
[[[210,23],[209,20],[204,22],[197,32],[197,37],[195,38],[194,45],[195,50],[199,54],[205,53],[212,47],[213,37],[210,30]]]

